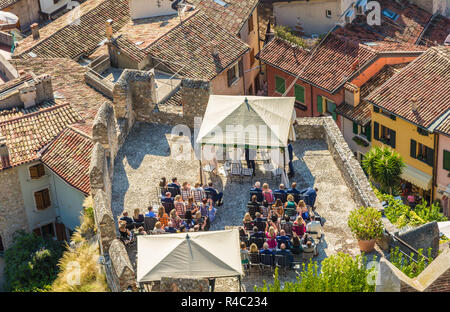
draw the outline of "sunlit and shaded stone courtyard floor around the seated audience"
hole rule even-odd
[[[157,205],[158,183],[161,177],[170,180],[177,177],[180,183],[188,181],[191,185],[200,181],[198,160],[177,160],[180,156],[176,142],[191,142],[187,136],[173,135],[171,126],[137,123],[127,141],[119,151],[115,161],[115,172],[112,186],[112,209],[114,217],[119,217],[124,210],[132,214],[135,208],[145,212],[148,204]],[[179,141],[181,140],[181,141]],[[293,144],[295,176],[290,182],[297,182],[298,188],[315,186],[319,189],[316,201],[316,213],[326,219],[325,236],[319,244],[319,255],[314,260],[319,263],[326,257],[337,252],[351,255],[360,253],[356,239],[347,227],[347,215],[356,207],[351,191],[347,187],[340,170],[323,140],[297,140]],[[193,157],[193,152],[191,153]],[[245,163],[245,162],[244,162]],[[246,212],[248,190],[252,183],[267,182],[272,190],[280,181],[272,179],[270,172],[264,173],[261,164],[257,162],[256,177],[251,182],[249,178],[243,183],[227,179],[222,173],[219,162],[219,175],[206,174],[204,180],[212,180],[216,188],[224,192],[224,205],[218,207],[216,220],[211,230],[224,230],[228,226],[242,225]],[[205,181],[204,181],[205,182]],[[130,259],[135,263],[135,251],[131,251]],[[295,280],[296,274],[281,276],[281,280]],[[270,276],[245,277],[243,287],[252,291],[254,285],[262,285],[263,279],[271,280]],[[218,279],[217,291],[238,290],[237,279]]]

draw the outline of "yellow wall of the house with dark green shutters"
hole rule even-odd
[[[430,133],[428,136],[420,135],[417,132],[417,126],[404,120],[399,117],[397,117],[396,120],[392,120],[391,118],[381,114],[375,113],[373,111],[372,106],[372,129],[374,129],[374,122],[378,122],[380,124],[380,133],[381,133],[381,126],[388,127],[389,129],[392,129],[396,132],[396,139],[395,139],[395,150],[403,157],[403,160],[406,164],[410,165],[411,167],[414,167],[426,174],[429,174],[430,176],[433,176],[433,167],[429,166],[428,164],[424,163],[421,160],[414,159],[410,156],[411,152],[411,139],[416,141],[417,143],[421,143],[428,148],[434,149],[434,134]],[[382,142],[374,139],[374,133],[372,130],[372,145],[373,146],[384,146]],[[435,151],[436,153],[436,151]]]

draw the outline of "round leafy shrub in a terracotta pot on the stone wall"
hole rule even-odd
[[[358,240],[359,249],[371,252],[383,235],[381,213],[373,207],[359,207],[350,212],[347,224]]]

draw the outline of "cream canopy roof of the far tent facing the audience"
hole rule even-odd
[[[211,95],[197,143],[285,147],[295,98]]]

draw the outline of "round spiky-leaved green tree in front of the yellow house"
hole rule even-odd
[[[399,153],[390,147],[373,147],[362,161],[362,166],[370,178],[380,184],[381,190],[392,194],[393,188],[400,184],[405,163]]]

